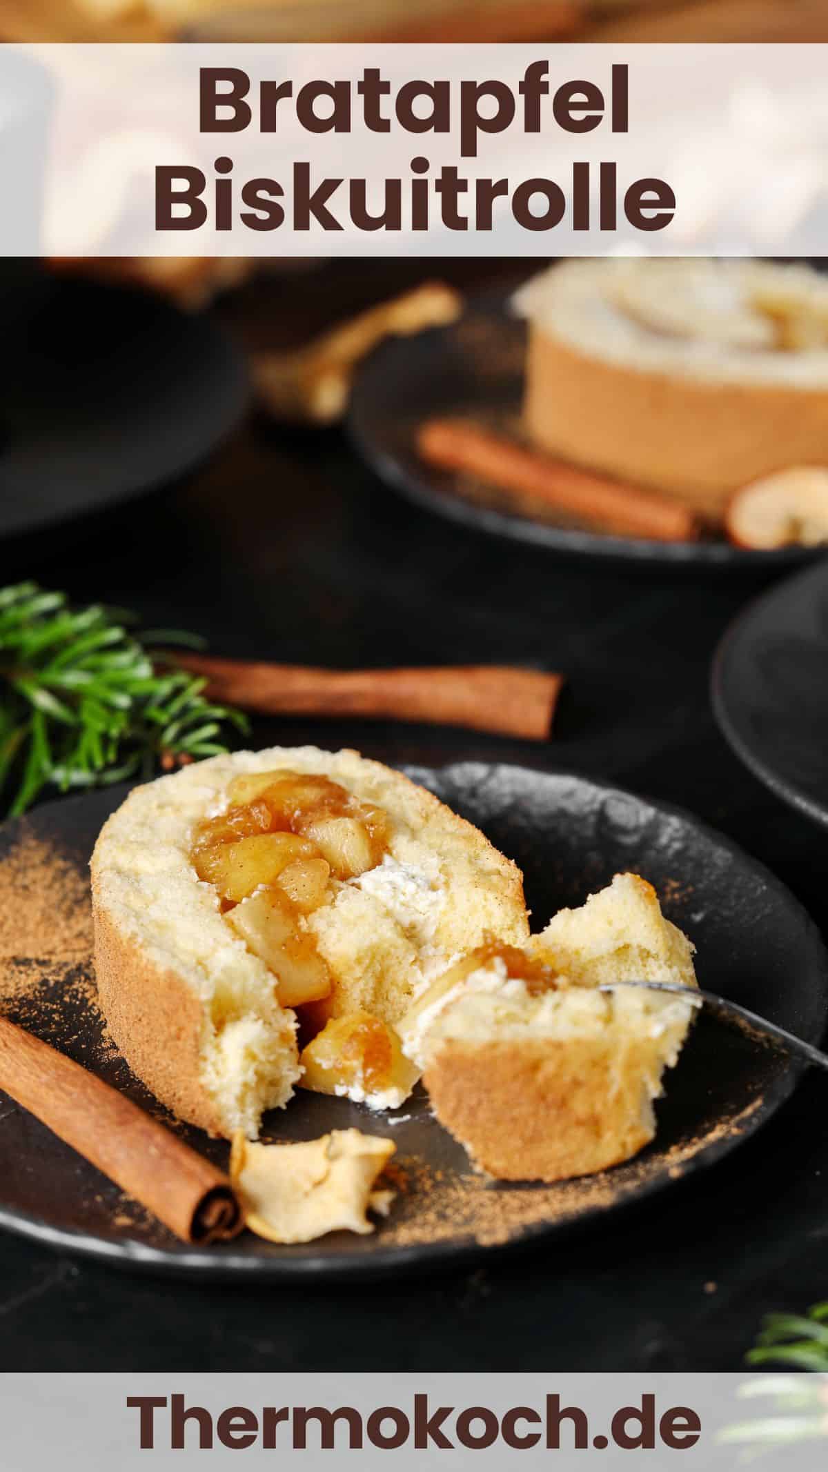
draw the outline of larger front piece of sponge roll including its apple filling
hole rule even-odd
[[[488,930],[529,935],[517,867],[354,751],[236,752],[136,788],[91,880],[115,1042],[178,1117],[225,1136],[255,1138],[292,1097],[298,1011],[393,1027]],[[371,1088],[359,1078],[355,1097],[395,1101]]]

